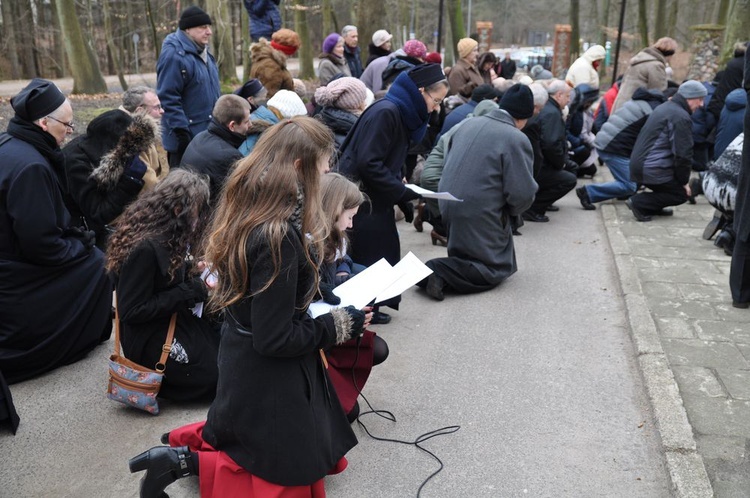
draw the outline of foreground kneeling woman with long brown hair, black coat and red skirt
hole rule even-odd
[[[325,496],[356,443],[320,350],[360,335],[352,307],[311,318],[327,225],[320,176],[333,136],[308,117],[269,128],[227,179],[206,259],[218,274],[211,307],[226,321],[219,384],[204,423],[131,459],[141,497],[200,473],[201,496]],[[166,441],[165,441],[166,442]],[[200,469],[200,470],[199,470]]]

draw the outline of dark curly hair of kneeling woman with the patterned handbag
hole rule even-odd
[[[107,247],[107,271],[118,274],[138,245],[149,239],[164,241],[169,251],[169,277],[184,263],[188,249],[197,249],[208,218],[208,179],[176,169],[153,190],[141,194],[115,224]]]

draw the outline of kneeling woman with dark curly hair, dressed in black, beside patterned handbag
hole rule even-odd
[[[193,272],[208,213],[206,178],[173,170],[120,216],[109,239],[106,268],[116,281],[122,347],[130,360],[153,368],[169,321],[177,313],[172,350],[159,396],[207,399],[216,392],[219,331],[192,308],[208,298]]]

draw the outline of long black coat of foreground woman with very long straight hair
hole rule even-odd
[[[309,485],[357,444],[320,356],[336,328],[330,314],[306,313],[315,270],[292,225],[280,273],[263,291],[273,275],[270,244],[257,229],[246,247],[250,288],[224,324],[219,386],[203,438],[262,479]]]

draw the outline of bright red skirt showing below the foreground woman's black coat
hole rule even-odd
[[[198,453],[201,498],[325,498],[323,479],[309,486],[281,486],[249,473],[203,440],[204,425],[205,421],[197,422],[169,433],[170,446],[188,446]],[[329,474],[343,472],[346,465],[342,458]]]

